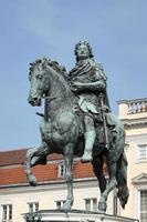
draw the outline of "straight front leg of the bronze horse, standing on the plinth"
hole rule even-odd
[[[62,206],[62,210],[70,211],[73,205],[73,173],[72,173],[72,164],[73,164],[73,144],[70,143],[66,145],[64,150],[65,158],[65,181],[67,184],[67,195],[66,201]]]

